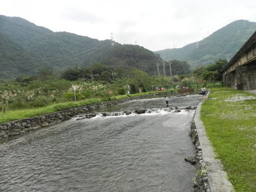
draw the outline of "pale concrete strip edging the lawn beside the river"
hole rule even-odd
[[[201,103],[197,106],[195,115],[195,125],[198,138],[202,147],[202,156],[208,174],[208,181],[211,192],[234,191],[232,184],[227,179],[227,173],[223,170],[223,165],[219,159],[215,158],[214,148],[206,136],[203,122],[200,119]]]

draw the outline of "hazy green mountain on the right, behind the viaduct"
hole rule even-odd
[[[256,23],[237,20],[199,42],[179,49],[156,51],[163,60],[186,60],[191,68],[208,66],[218,59],[230,59],[255,32]]]

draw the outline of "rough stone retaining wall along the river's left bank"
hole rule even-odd
[[[170,93],[166,93],[166,92],[161,93],[160,92],[157,94],[158,95],[167,95]],[[130,100],[142,99],[142,98],[145,98],[148,96],[153,96],[153,95],[154,94],[136,96],[136,97],[130,97],[130,98],[125,98],[125,99],[101,102],[101,103],[97,103],[97,104],[84,105],[84,106],[80,106],[78,108],[59,111],[59,112],[46,114],[46,115],[42,115],[42,116],[30,117],[30,118],[26,118],[26,119],[20,119],[20,120],[2,123],[2,124],[0,124],[0,139],[7,138],[10,136],[19,135],[24,132],[38,129],[40,127],[46,127],[46,126],[49,126],[52,124],[57,124],[61,121],[71,119],[72,117],[74,117],[76,115],[86,114],[92,110],[103,108],[105,106],[116,105],[116,104],[127,102]]]

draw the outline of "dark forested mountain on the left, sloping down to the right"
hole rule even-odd
[[[111,47],[111,40],[53,32],[20,17],[0,15],[0,38],[0,79],[34,75],[40,68],[61,72],[95,62],[136,67],[153,74],[156,62],[161,62],[152,51],[140,46],[115,43]]]

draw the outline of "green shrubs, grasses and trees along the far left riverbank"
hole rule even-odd
[[[36,76],[0,81],[0,123],[136,96],[131,94],[138,94],[139,88],[141,94],[148,94],[148,91],[159,88],[173,89],[174,84],[216,81],[226,63],[226,60],[220,59],[205,68],[195,69],[194,75],[191,75],[188,73],[189,66],[174,60],[173,72],[176,75],[173,81],[169,77],[149,76],[136,68],[112,68],[101,63],[94,63],[88,68],[70,68],[61,74],[54,74],[51,69],[41,69]],[[73,102],[73,86],[76,86],[78,102]],[[130,94],[126,95],[129,90]]]

